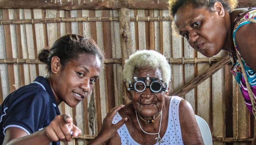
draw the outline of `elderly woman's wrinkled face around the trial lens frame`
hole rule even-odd
[[[137,68],[133,72],[134,77],[158,77],[161,78],[161,72],[159,69],[152,68]],[[149,83],[151,83],[149,81]],[[134,109],[144,117],[151,117],[159,113],[164,104],[164,99],[167,93],[160,91],[159,93],[152,93],[150,88],[146,88],[143,92],[137,92],[135,90],[130,91],[131,101]]]

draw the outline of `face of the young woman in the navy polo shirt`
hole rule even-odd
[[[80,54],[79,59],[70,60],[56,75],[54,92],[57,99],[75,107],[91,93],[99,78],[101,62],[93,54]],[[57,100],[56,99],[56,100]]]

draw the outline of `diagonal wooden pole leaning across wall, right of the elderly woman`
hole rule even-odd
[[[209,69],[207,69],[207,71],[201,73],[200,75],[192,79],[189,83],[187,83],[186,85],[178,89],[171,96],[184,96],[186,93],[194,89],[196,86],[198,86],[200,83],[205,81],[208,77],[210,77],[212,74],[220,70],[222,67],[224,67],[228,63],[230,63],[230,58],[227,55],[222,60],[212,65]]]

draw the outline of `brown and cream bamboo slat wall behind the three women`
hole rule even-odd
[[[56,39],[70,33],[92,37],[105,53],[105,70],[101,72],[92,94],[76,108],[64,103],[59,108],[61,113],[71,114],[74,118],[74,123],[84,134],[81,138],[96,135],[106,113],[123,104],[123,56],[118,17],[119,10],[0,9],[0,19],[3,19],[0,25],[0,103],[9,93],[29,84],[36,76],[47,75],[44,64],[35,60],[41,49],[51,47]],[[171,94],[219,60],[204,59],[186,40],[173,35],[168,10],[130,10],[130,17],[130,51],[156,50],[173,62]],[[214,57],[226,55],[226,52],[220,52]],[[189,58],[192,61],[188,62]],[[206,61],[201,61],[203,59]],[[191,103],[195,114],[209,124],[214,145],[250,144],[248,140],[255,132],[254,121],[230,68],[231,64],[226,65],[182,96]],[[82,145],[87,142],[76,139],[61,144]]]

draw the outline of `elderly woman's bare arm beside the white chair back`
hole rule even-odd
[[[186,100],[179,104],[179,122],[184,145],[203,145],[193,108]]]

